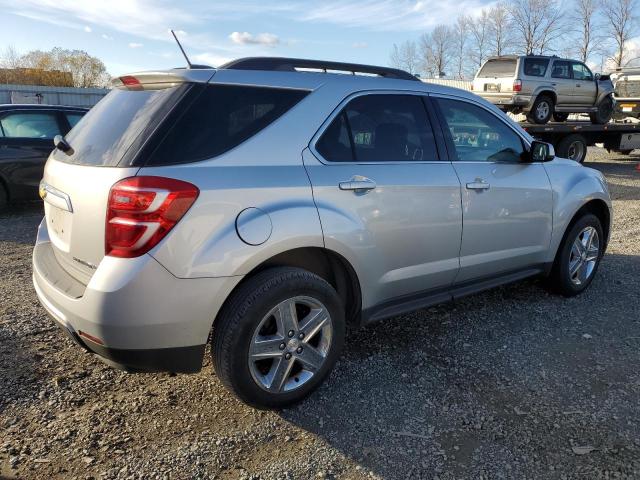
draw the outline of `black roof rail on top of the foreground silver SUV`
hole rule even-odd
[[[415,76],[397,68],[377,67],[374,65],[359,65],[357,63],[328,62],[324,60],[308,60],[304,58],[281,57],[247,57],[225,63],[218,68],[226,70],[267,70],[280,72],[296,72],[299,68],[337,70],[343,72],[368,73],[385,78],[420,81]]]

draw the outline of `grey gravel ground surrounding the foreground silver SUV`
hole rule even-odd
[[[282,412],[83,353],[31,286],[38,206],[0,216],[0,479],[640,478],[640,172],[593,149],[615,218],[591,288],[525,281],[356,332]],[[207,357],[208,358],[208,357]]]

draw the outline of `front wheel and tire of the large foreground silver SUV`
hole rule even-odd
[[[593,281],[604,254],[605,238],[598,217],[586,214],[565,235],[549,277],[551,288],[573,297]]]

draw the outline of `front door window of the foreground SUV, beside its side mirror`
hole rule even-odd
[[[455,159],[519,162],[524,147],[520,137],[495,115],[467,102],[439,99]]]

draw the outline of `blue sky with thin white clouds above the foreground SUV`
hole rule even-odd
[[[82,49],[112,75],[183,66],[169,28],[191,61],[217,66],[253,55],[387,65],[393,43],[415,39],[487,0],[0,0],[0,49]]]

